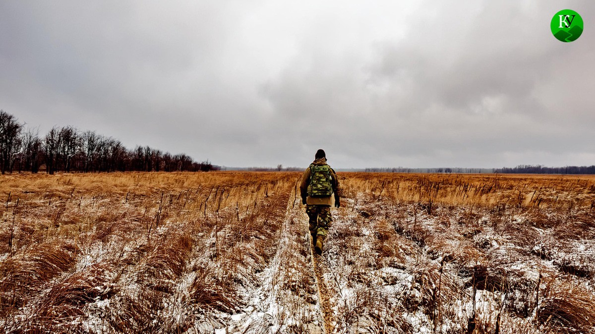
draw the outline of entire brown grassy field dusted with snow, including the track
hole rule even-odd
[[[7,333],[595,333],[595,177],[0,177]]]

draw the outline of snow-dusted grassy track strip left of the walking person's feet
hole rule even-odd
[[[305,242],[308,220],[297,203],[295,196],[289,198],[275,255],[257,276],[259,288],[248,298],[252,309],[242,316],[237,333],[329,333],[312,247]]]

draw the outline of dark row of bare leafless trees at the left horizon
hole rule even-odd
[[[58,171],[212,171],[218,166],[208,160],[195,162],[185,154],[171,155],[149,146],[129,150],[120,140],[71,126],[54,127],[40,137],[37,130],[25,129],[15,116],[0,110],[2,174],[37,173],[43,168],[48,174],[54,174]]]

